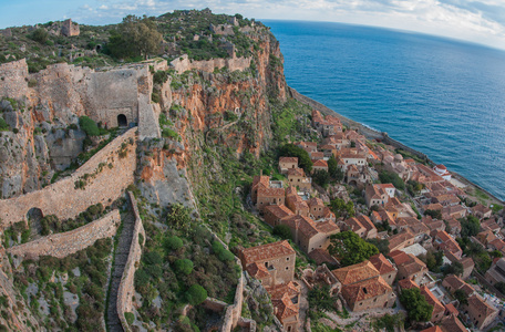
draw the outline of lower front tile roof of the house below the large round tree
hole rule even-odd
[[[351,303],[373,299],[392,291],[388,282],[380,276],[342,287],[342,295]]]

